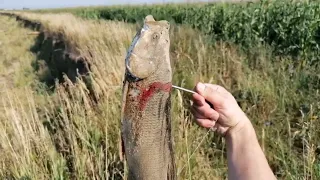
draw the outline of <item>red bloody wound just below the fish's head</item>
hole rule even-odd
[[[145,109],[150,98],[159,91],[170,92],[172,83],[154,82],[147,88],[141,88],[141,94],[139,96],[139,110]]]

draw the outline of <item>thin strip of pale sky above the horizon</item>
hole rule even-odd
[[[115,4],[187,2],[188,0],[0,0],[0,9],[38,9]],[[192,2],[194,0],[189,0]],[[204,0],[203,0],[204,1]]]

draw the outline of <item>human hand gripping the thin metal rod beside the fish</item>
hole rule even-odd
[[[195,91],[197,93],[193,94],[192,113],[200,126],[226,135],[232,129],[237,129],[236,126],[241,129],[244,124],[250,123],[235,98],[225,88],[198,83]],[[206,101],[211,103],[214,109]]]

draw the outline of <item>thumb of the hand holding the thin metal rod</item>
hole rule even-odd
[[[214,107],[220,107],[224,101],[224,97],[218,91],[219,86],[210,84],[198,83],[196,86],[196,91],[201,96],[203,96],[208,102],[210,102]]]

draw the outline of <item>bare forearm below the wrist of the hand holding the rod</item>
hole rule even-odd
[[[275,179],[250,121],[226,135],[229,179]]]

